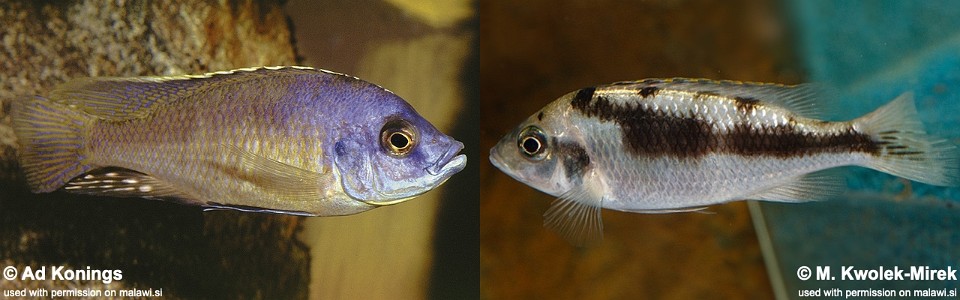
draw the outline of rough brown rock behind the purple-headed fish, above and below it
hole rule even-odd
[[[0,193],[3,264],[119,269],[123,280],[0,281],[23,288],[162,288],[190,298],[303,298],[301,218],[201,213],[142,199],[30,194],[16,172],[9,101],[70,78],[196,74],[296,62],[280,3],[0,3]],[[48,267],[50,268],[50,267]],[[49,272],[49,271],[48,271]],[[49,276],[49,275],[48,275]]]

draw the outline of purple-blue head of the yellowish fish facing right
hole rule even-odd
[[[389,91],[384,90],[386,93]],[[441,133],[390,93],[371,105],[336,142],[344,191],[372,205],[390,205],[426,193],[463,170],[463,143]],[[357,119],[357,118],[354,118]]]

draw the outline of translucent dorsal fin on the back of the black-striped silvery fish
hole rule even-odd
[[[711,93],[729,98],[757,100],[761,104],[784,108],[806,118],[823,117],[825,102],[823,87],[815,84],[782,85],[773,83],[740,82],[694,78],[644,79],[617,82],[606,87],[674,89]]]

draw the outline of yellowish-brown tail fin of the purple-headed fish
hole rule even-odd
[[[84,140],[92,116],[40,96],[14,101],[11,115],[33,192],[52,192],[91,169],[84,164]]]

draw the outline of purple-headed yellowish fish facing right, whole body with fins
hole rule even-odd
[[[85,78],[14,103],[34,192],[346,215],[463,169],[463,145],[393,93],[303,67]]]

